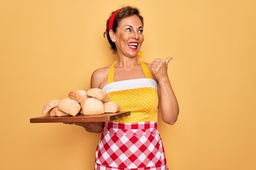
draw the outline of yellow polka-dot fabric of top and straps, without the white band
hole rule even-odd
[[[116,62],[114,62],[115,64]],[[110,67],[108,84],[114,81],[114,64]],[[141,62],[146,78],[151,79],[151,72],[144,62]],[[108,93],[110,101],[115,101],[121,106],[121,111],[131,111],[131,115],[114,120],[118,123],[157,122],[159,98],[156,89],[142,87],[125,89]]]

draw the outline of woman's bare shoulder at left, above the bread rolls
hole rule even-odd
[[[91,77],[91,88],[100,88],[102,89],[103,86],[107,84],[107,76],[110,70],[110,65],[106,67],[102,67],[100,69],[96,69],[92,72]]]

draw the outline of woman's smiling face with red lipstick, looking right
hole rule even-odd
[[[129,16],[119,22],[114,33],[115,45],[120,56],[137,57],[144,41],[142,21],[138,16]]]

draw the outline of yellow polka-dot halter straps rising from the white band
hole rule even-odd
[[[112,82],[114,82],[114,65],[117,63],[117,61],[115,61],[111,66],[110,66],[110,71],[108,73],[108,76],[107,76],[107,84],[110,84]],[[141,64],[142,66],[142,70],[145,74],[145,77],[147,79],[153,79],[152,77],[152,74],[149,70],[149,67],[146,66],[146,64],[142,61],[139,60],[139,63]]]

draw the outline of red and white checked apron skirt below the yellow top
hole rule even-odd
[[[105,123],[95,170],[168,170],[156,122]]]

